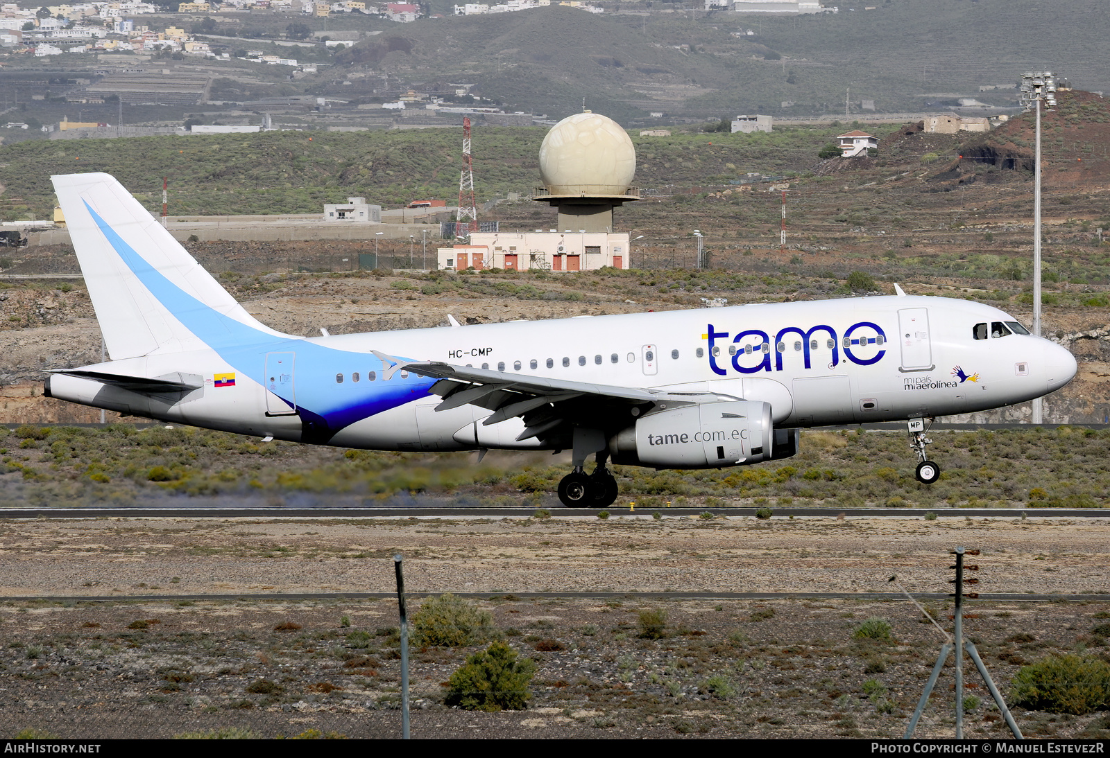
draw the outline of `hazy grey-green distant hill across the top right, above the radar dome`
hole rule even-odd
[[[617,8],[659,10],[649,2]],[[626,125],[653,110],[695,119],[836,113],[849,88],[857,112],[859,99],[906,112],[956,104],[957,94],[1011,104],[1012,92],[979,95],[978,86],[1012,84],[1030,68],[1110,90],[1100,48],[1108,25],[1110,8],[1099,0],[891,0],[866,12],[695,20],[551,7],[391,24],[337,55],[342,65],[321,78],[329,93],[347,96],[362,94],[352,72],[387,72],[410,85],[472,82],[476,94],[508,110],[553,117],[577,111],[585,96]],[[747,29],[758,33],[731,33]],[[406,44],[387,50],[387,35]]]

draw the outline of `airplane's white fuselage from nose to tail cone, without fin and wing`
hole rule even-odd
[[[320,441],[351,448],[529,448],[541,443],[515,441],[518,418],[484,427],[490,411],[475,406],[436,412],[434,380],[400,371],[385,380],[371,350],[526,377],[716,392],[769,403],[776,427],[811,427],[967,413],[1066,385],[1076,372],[1071,354],[1020,327],[993,329],[1013,322],[966,300],[866,297],[317,338],[259,332],[235,350],[155,350],[88,367],[191,376],[203,382],[191,392],[150,396],[64,375],[51,378],[49,392],[292,441],[317,441],[305,432],[311,418],[330,428]]]

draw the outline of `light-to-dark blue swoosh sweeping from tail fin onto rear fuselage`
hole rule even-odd
[[[84,203],[84,207],[92,215],[104,238],[150,294],[235,371],[265,387],[265,355],[280,351],[296,352],[296,372],[293,380],[299,400],[296,408],[322,418],[331,431],[337,431],[355,421],[423,397],[435,383],[434,379],[425,379],[414,373],[407,379],[402,379],[398,373],[389,382],[336,383],[337,373],[350,376],[354,371],[380,371],[386,367],[374,356],[336,350],[304,339],[275,338],[224,316],[165,278],[124,242],[88,203]],[[282,400],[293,407],[287,398]]]

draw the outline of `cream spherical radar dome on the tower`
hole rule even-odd
[[[539,146],[539,178],[553,195],[624,195],[635,174],[628,133],[599,113],[563,119]]]

